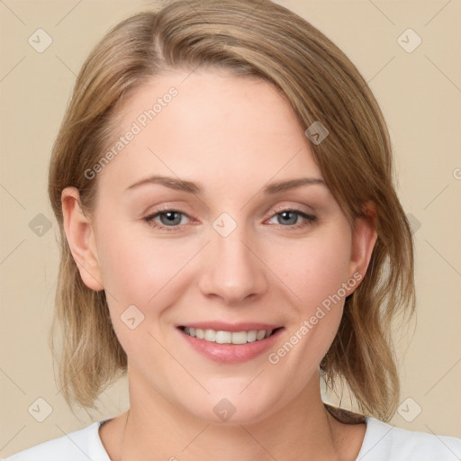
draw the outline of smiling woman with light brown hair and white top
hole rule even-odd
[[[284,7],[177,0],[118,24],[77,77],[49,193],[63,393],[91,407],[127,373],[130,409],[8,459],[461,456],[386,422],[390,324],[414,308],[392,168],[357,68]]]

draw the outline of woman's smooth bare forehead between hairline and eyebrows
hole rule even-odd
[[[140,86],[116,119],[107,150],[122,149],[114,149],[103,182],[111,176],[128,186],[148,174],[173,174],[235,187],[236,180],[262,186],[275,175],[321,177],[291,105],[259,78],[170,72]]]

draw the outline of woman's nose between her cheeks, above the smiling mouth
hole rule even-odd
[[[202,252],[199,285],[203,295],[238,305],[267,290],[264,262],[244,228],[238,225],[227,237],[211,229],[211,241]]]

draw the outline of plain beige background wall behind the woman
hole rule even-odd
[[[393,138],[399,194],[415,223],[418,293],[416,322],[399,342],[404,417],[397,412],[393,423],[461,437],[461,2],[279,3],[348,54],[374,90]],[[100,413],[80,411],[78,419],[55,384],[47,335],[58,246],[46,181],[51,145],[78,69],[108,28],[143,5],[148,4],[0,2],[0,456],[127,408],[126,380],[104,393]],[[28,42],[39,28],[52,38],[42,53]],[[398,41],[408,28],[422,40],[411,53]],[[415,42],[405,37],[407,47]],[[41,236],[31,229],[46,223],[36,218],[39,213],[52,221]],[[38,398],[52,408],[43,422],[28,411],[37,408]]]

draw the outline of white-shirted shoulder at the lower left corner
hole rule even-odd
[[[102,422],[97,421],[84,429],[42,442],[8,456],[4,461],[111,461],[99,437]]]

